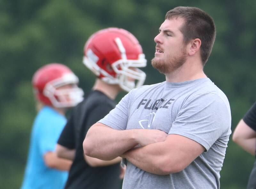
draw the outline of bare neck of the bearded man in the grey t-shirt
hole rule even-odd
[[[201,62],[186,61],[181,67],[165,74],[167,82],[184,82],[207,77]]]

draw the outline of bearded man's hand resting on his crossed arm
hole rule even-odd
[[[157,129],[138,130],[137,141],[140,146],[147,146],[156,142],[163,142],[167,137],[167,133]]]

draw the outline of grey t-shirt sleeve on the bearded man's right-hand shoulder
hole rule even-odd
[[[224,132],[227,135],[230,132],[231,113],[227,103],[209,92],[188,98],[169,134],[190,138],[208,150]]]

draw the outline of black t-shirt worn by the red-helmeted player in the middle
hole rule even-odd
[[[120,188],[120,163],[91,167],[84,160],[83,141],[89,128],[109,113],[116,103],[100,91],[91,91],[72,111],[58,144],[76,149],[66,189]]]

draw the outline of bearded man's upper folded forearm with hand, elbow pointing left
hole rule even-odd
[[[84,139],[84,154],[101,160],[112,160],[136,145],[164,141],[167,134],[160,130],[115,130],[95,123]]]

